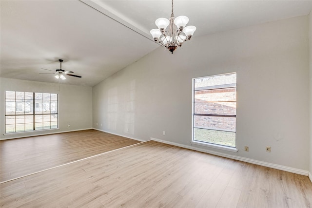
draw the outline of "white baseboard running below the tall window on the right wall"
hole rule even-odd
[[[218,156],[222,156],[222,157],[226,157],[226,158],[231,158],[234,160],[239,160],[239,161],[243,161],[243,162],[247,162],[247,163],[252,163],[255,165],[260,165],[260,166],[264,166],[264,167],[268,167],[268,168],[277,169],[277,170],[285,170],[288,172],[292,172],[292,173],[296,173],[296,174],[300,174],[300,175],[306,175],[306,176],[309,175],[309,178],[312,181],[312,175],[307,170],[295,169],[295,168],[291,168],[291,167],[287,167],[287,166],[281,166],[281,165],[277,165],[277,164],[273,164],[273,163],[267,163],[267,162],[263,162],[263,161],[259,161],[259,160],[250,159],[247,157],[235,156],[235,155],[221,153],[221,152],[217,152],[217,151],[205,150],[202,148],[192,147],[192,146],[188,146],[188,145],[182,145],[182,144],[178,144],[175,142],[168,142],[165,140],[156,139],[156,138],[152,138],[152,137],[151,137],[151,140],[154,140],[156,142],[165,143],[165,144],[174,145],[177,147],[190,149],[190,150],[206,152],[206,153],[210,153],[210,154],[214,154],[214,155],[218,155]]]

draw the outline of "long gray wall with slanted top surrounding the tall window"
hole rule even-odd
[[[236,72],[239,151],[201,148],[308,171],[308,20],[195,35],[173,55],[159,47],[93,87],[93,127],[191,146],[192,78]]]

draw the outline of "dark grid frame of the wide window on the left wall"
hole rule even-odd
[[[14,99],[13,98],[7,98],[7,92],[14,92]],[[23,93],[23,98],[17,98],[17,93]],[[29,99],[26,97],[26,94],[32,94],[32,98]],[[49,94],[49,99],[44,99],[42,96],[42,99],[36,99],[36,94]],[[53,96],[53,97],[52,97]],[[54,98],[54,99],[53,99]],[[56,99],[55,99],[56,98]],[[52,99],[52,100],[51,100]],[[7,106],[7,102],[14,102],[14,106]],[[40,102],[49,102],[49,113],[37,113],[37,110],[39,109],[39,104],[38,101]],[[17,102],[22,102],[23,104],[20,104],[20,106],[17,106],[16,103]],[[51,106],[51,103],[54,103],[54,105],[56,106]],[[26,103],[28,104],[26,106]],[[29,105],[29,103],[32,103],[32,105]],[[5,97],[4,97],[4,132],[5,134],[16,134],[16,133],[25,133],[25,132],[38,132],[38,131],[46,131],[46,130],[56,130],[59,129],[59,94],[57,93],[35,93],[35,92],[21,92],[21,91],[10,91],[10,90],[6,90],[5,91]],[[36,105],[37,104],[37,105]],[[7,108],[13,108],[14,109],[14,113],[9,113],[7,114]],[[17,108],[23,108],[23,110],[21,111],[22,113],[17,113]],[[26,112],[26,108],[31,109],[30,112]],[[43,105],[42,107],[43,108]],[[54,109],[56,111],[54,111],[53,113],[51,112],[51,109]],[[48,115],[48,116],[47,116]],[[14,123],[9,123],[7,124],[7,116],[14,116]],[[23,122],[17,123],[17,116],[24,116],[23,118]],[[26,118],[26,116],[31,116],[32,118]],[[36,126],[36,123],[38,124],[38,122],[36,122],[36,116],[42,116],[42,128],[39,128]],[[48,126],[44,126],[44,120],[43,117],[50,117],[49,118],[49,125]],[[52,116],[54,117],[54,120],[52,121],[51,118]],[[28,122],[27,122],[28,119]],[[32,119],[32,122],[29,122],[29,119]],[[52,123],[53,122],[53,123]],[[47,124],[46,123],[46,124]],[[20,125],[24,125],[23,130],[19,131],[17,130],[17,124]],[[26,128],[28,124],[28,129]],[[7,131],[7,125],[14,125],[14,131]],[[56,127],[55,127],[56,126]],[[47,128],[49,127],[49,128]]]

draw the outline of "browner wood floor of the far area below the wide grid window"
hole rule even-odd
[[[0,181],[63,165],[139,141],[84,130],[0,141]]]

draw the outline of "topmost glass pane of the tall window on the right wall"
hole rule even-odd
[[[194,80],[194,87],[201,88],[201,87],[213,87],[218,86],[214,88],[219,88],[220,86],[224,85],[233,85],[236,86],[236,73],[234,74],[227,74],[227,75],[217,75],[217,76],[207,76],[207,77],[201,77],[196,78]]]

